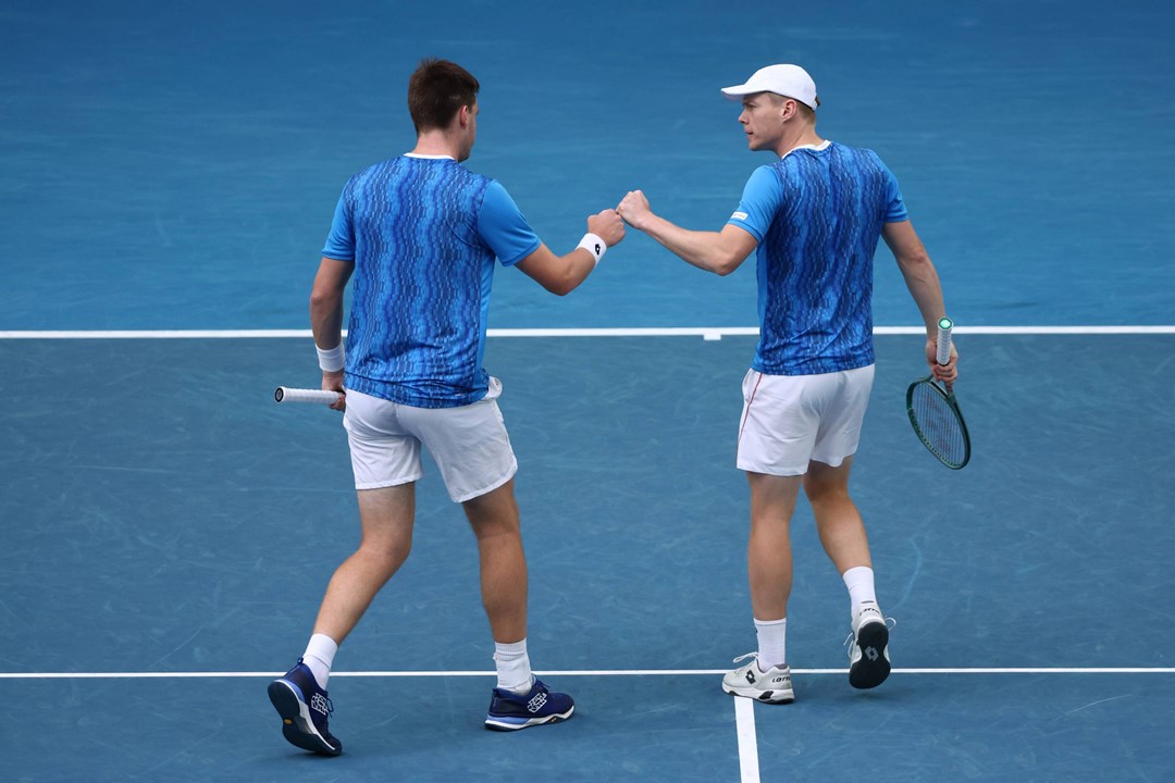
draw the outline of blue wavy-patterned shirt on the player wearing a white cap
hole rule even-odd
[[[751,366],[806,376],[873,364],[873,255],[882,224],[906,220],[872,150],[825,142],[756,169],[727,221],[759,242]]]

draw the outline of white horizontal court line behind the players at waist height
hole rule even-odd
[[[922,326],[875,326],[874,335],[921,335]],[[955,326],[956,335],[1175,335],[1159,326]],[[343,332],[345,335],[345,331]],[[683,326],[638,329],[490,329],[490,337],[723,337],[756,336],[757,326]],[[310,338],[309,329],[160,329],[0,331],[0,339],[286,339]]]

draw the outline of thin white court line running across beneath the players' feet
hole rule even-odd
[[[658,677],[721,675],[727,669],[571,669],[542,670],[544,677]],[[280,677],[284,671],[0,671],[0,680],[167,680],[193,677]],[[848,669],[792,669],[792,674],[847,675]],[[1175,674],[1175,667],[1002,667],[893,669],[891,674]],[[489,671],[331,671],[331,677],[492,677]]]

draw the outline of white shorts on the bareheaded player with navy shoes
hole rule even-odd
[[[502,383],[461,407],[412,407],[347,392],[343,426],[351,447],[356,490],[409,484],[424,475],[421,446],[441,470],[454,502],[497,490],[518,472],[518,460],[498,410]]]

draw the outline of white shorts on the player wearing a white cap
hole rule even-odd
[[[803,475],[808,463],[837,467],[857,452],[873,390],[873,365],[819,376],[743,379],[738,467],[753,473]]]

